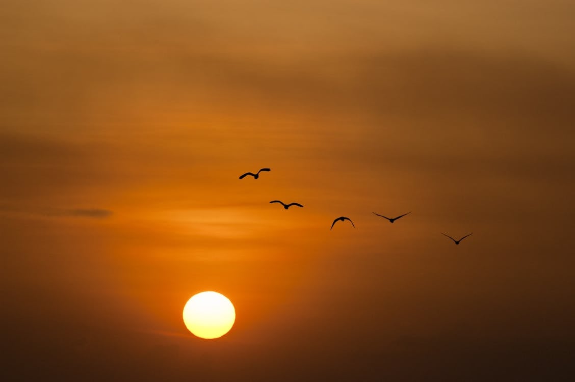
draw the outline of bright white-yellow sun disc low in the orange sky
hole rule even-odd
[[[183,307],[183,322],[192,334],[200,338],[218,338],[232,329],[236,310],[232,302],[218,292],[193,295]]]

